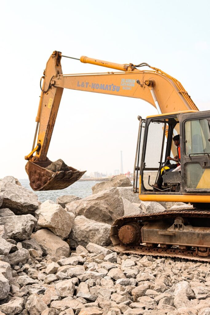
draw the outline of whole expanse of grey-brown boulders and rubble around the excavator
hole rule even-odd
[[[41,204],[13,177],[0,180],[0,315],[210,314],[208,263],[110,245],[118,216],[165,207],[131,186]]]

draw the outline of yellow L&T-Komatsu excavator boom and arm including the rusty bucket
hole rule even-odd
[[[63,74],[61,57],[61,52],[53,52],[42,77],[42,86],[40,81],[42,92],[36,117],[37,128],[32,151],[25,157],[29,161],[26,172],[34,190],[62,189],[84,174],[71,167],[60,172],[46,169],[52,163],[47,158],[47,152],[64,88],[139,98],[156,107],[159,113],[198,110],[178,80],[148,64],[121,65],[82,56],[80,61],[83,63],[119,71]],[[148,66],[152,70],[140,71],[137,67],[141,66]],[[35,152],[36,155],[33,156]]]

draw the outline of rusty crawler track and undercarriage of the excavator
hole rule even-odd
[[[210,261],[210,209],[175,208],[117,219],[111,226],[116,251]]]

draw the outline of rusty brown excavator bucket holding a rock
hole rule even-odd
[[[46,169],[52,162],[31,162],[26,164],[26,173],[29,176],[30,186],[34,191],[64,189],[80,179],[86,171],[79,171],[66,166],[65,171],[53,172]]]

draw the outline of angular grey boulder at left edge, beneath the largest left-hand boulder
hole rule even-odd
[[[29,238],[36,223],[37,219],[30,214],[0,218],[0,224],[5,226],[7,236],[17,240],[25,240]]]

